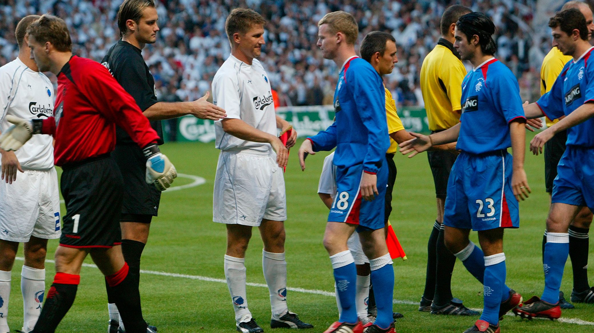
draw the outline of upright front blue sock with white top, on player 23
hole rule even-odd
[[[497,325],[502,293],[505,290],[505,254],[502,252],[485,256],[484,262],[484,309],[481,320]],[[509,289],[507,289],[507,294],[509,294]]]

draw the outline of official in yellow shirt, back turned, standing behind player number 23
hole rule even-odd
[[[462,15],[472,12],[462,5],[445,9],[441,16],[441,38],[437,46],[425,57],[421,66],[421,92],[429,120],[431,134],[441,132],[460,122],[462,80],[466,68],[454,49],[454,27]],[[455,143],[455,142],[454,142]],[[437,218],[427,245],[427,272],[425,291],[419,311],[443,315],[478,315],[462,305],[451,294],[451,274],[456,257],[445,248],[443,215],[447,182],[456,161],[456,153],[446,150],[427,151],[429,166],[435,183]]]

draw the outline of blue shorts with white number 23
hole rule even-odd
[[[461,153],[448,179],[444,225],[477,231],[519,227],[511,174],[512,159],[507,151]]]

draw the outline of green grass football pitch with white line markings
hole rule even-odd
[[[527,142],[532,135],[527,135]],[[301,143],[299,140],[298,144]],[[214,144],[168,143],[162,146],[179,173],[203,177],[206,182],[179,191],[165,192],[159,217],[153,219],[149,243],[141,268],[141,296],[144,318],[159,332],[234,332],[235,319],[229,291],[224,283],[223,255],[225,226],[212,222],[212,189],[219,151]],[[511,150],[510,150],[511,151]],[[297,148],[292,150],[285,173],[288,220],[286,221],[286,258],[288,269],[287,302],[305,322],[315,326],[309,332],[323,332],[337,320],[333,297],[330,261],[322,245],[327,208],[318,198],[317,183],[326,152],[307,159],[307,169],[299,169]],[[435,192],[426,154],[409,159],[395,157],[398,175],[390,221],[408,256],[394,260],[396,286],[394,311],[405,318],[396,323],[397,332],[463,332],[478,316],[436,316],[418,312],[424,289],[426,244],[435,220]],[[520,203],[520,229],[506,230],[504,249],[507,258],[507,285],[525,300],[542,293],[544,275],[541,261],[542,233],[548,213],[549,196],[544,188],[542,156],[526,154],[526,173],[532,189],[530,198]],[[175,186],[197,180],[178,177]],[[200,181],[198,181],[200,183]],[[65,214],[62,205],[62,215]],[[476,233],[471,239],[478,244]],[[48,259],[53,259],[57,240],[49,243]],[[20,253],[17,256],[22,256]],[[245,265],[249,309],[264,331],[270,329],[270,302],[261,268],[262,242],[254,229]],[[590,262],[594,246],[590,247]],[[91,264],[90,258],[87,261]],[[11,329],[22,325],[20,296],[21,260],[12,270],[10,298]],[[47,266],[46,288],[52,282],[54,267]],[[594,283],[590,272],[590,283]],[[572,274],[569,259],[561,290],[571,294]],[[295,290],[301,288],[301,291]],[[482,285],[457,261],[452,278],[454,297],[468,307],[482,308]],[[105,283],[97,268],[83,267],[74,306],[56,332],[105,332],[108,322]],[[505,316],[502,332],[593,332],[594,305],[576,304],[564,310],[564,321]],[[569,319],[580,324],[570,324]],[[276,331],[287,331],[276,329]]]

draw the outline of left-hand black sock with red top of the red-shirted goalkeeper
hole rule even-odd
[[[53,333],[60,321],[74,303],[80,275],[58,272],[49,287],[48,296],[43,302],[43,307],[37,324],[31,333]]]

